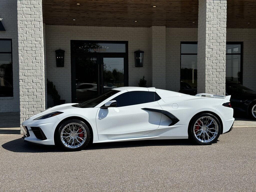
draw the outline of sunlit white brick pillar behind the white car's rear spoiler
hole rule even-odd
[[[199,0],[197,93],[225,95],[227,1]]]

